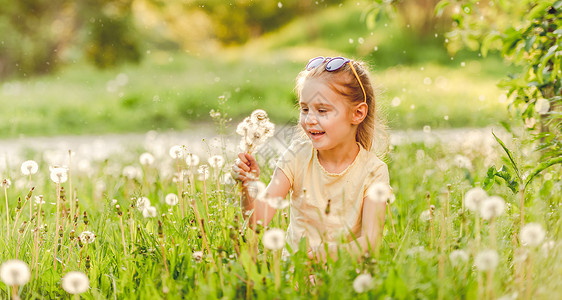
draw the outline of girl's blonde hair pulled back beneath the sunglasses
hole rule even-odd
[[[349,99],[350,105],[357,105],[365,101],[369,107],[367,116],[357,126],[355,140],[367,151],[374,151],[377,155],[384,156],[388,151],[388,134],[384,121],[376,109],[375,89],[366,63],[356,60],[350,61],[361,80],[361,84],[363,84],[365,94],[363,94],[363,89],[361,89],[361,85],[349,63],[332,72],[326,71],[326,63],[327,61],[310,71],[303,70],[299,73],[295,87],[297,97],[301,98],[304,82],[307,79],[320,78],[324,79],[334,92]]]

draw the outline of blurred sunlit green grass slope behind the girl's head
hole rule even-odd
[[[462,52],[451,60],[440,41],[418,43],[391,22],[368,29],[365,9],[329,8],[218,52],[152,49],[139,65],[98,70],[78,61],[52,75],[4,82],[0,137],[194,129],[210,122],[221,95],[235,120],[262,108],[277,123],[291,122],[298,116],[297,73],[311,57],[337,54],[372,66],[379,109],[392,128],[483,127],[508,119],[496,83],[512,69],[498,57]],[[128,82],[109,91],[121,73]]]

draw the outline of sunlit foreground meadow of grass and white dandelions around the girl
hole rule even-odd
[[[529,168],[532,145],[508,133],[501,138],[521,149],[513,159]],[[545,170],[525,190],[524,224],[521,194],[493,180],[486,193],[505,205],[490,217],[467,192],[484,185],[488,167],[507,161],[491,135],[467,134],[450,144],[428,133],[423,142],[392,145],[386,160],[395,200],[382,243],[360,257],[340,249],[337,260],[325,262],[308,259],[304,243],[285,259],[279,248],[267,248],[264,235],[287,228],[288,208],[269,226],[248,228],[226,148],[221,160],[217,153],[196,159],[189,144],[147,145],[97,159],[30,151],[24,159],[38,163],[34,174],[29,163],[10,164],[3,173],[8,214],[3,209],[0,218],[0,261],[24,261],[31,278],[12,291],[1,285],[2,298],[68,298],[61,278],[70,271],[87,274],[84,299],[562,295],[559,169]],[[267,183],[263,153],[257,152],[260,180]]]

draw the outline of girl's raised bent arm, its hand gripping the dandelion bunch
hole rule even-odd
[[[244,216],[246,216],[247,211],[254,210],[249,217],[249,224],[253,227],[258,220],[261,220],[263,225],[267,225],[271,219],[273,219],[276,209],[267,205],[266,201],[256,201],[256,199],[248,192],[248,182],[256,180],[259,176],[258,164],[251,154],[240,153],[238,154],[238,157],[240,158],[240,163],[233,167],[233,171],[236,174],[236,178],[242,182],[241,204]],[[285,198],[289,193],[290,188],[291,184],[289,179],[283,171],[277,168],[273,172],[271,181],[266,188],[265,198]]]

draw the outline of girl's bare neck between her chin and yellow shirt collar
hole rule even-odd
[[[359,153],[357,142],[341,144],[329,150],[318,150],[318,162],[330,173],[340,173],[353,163]]]

